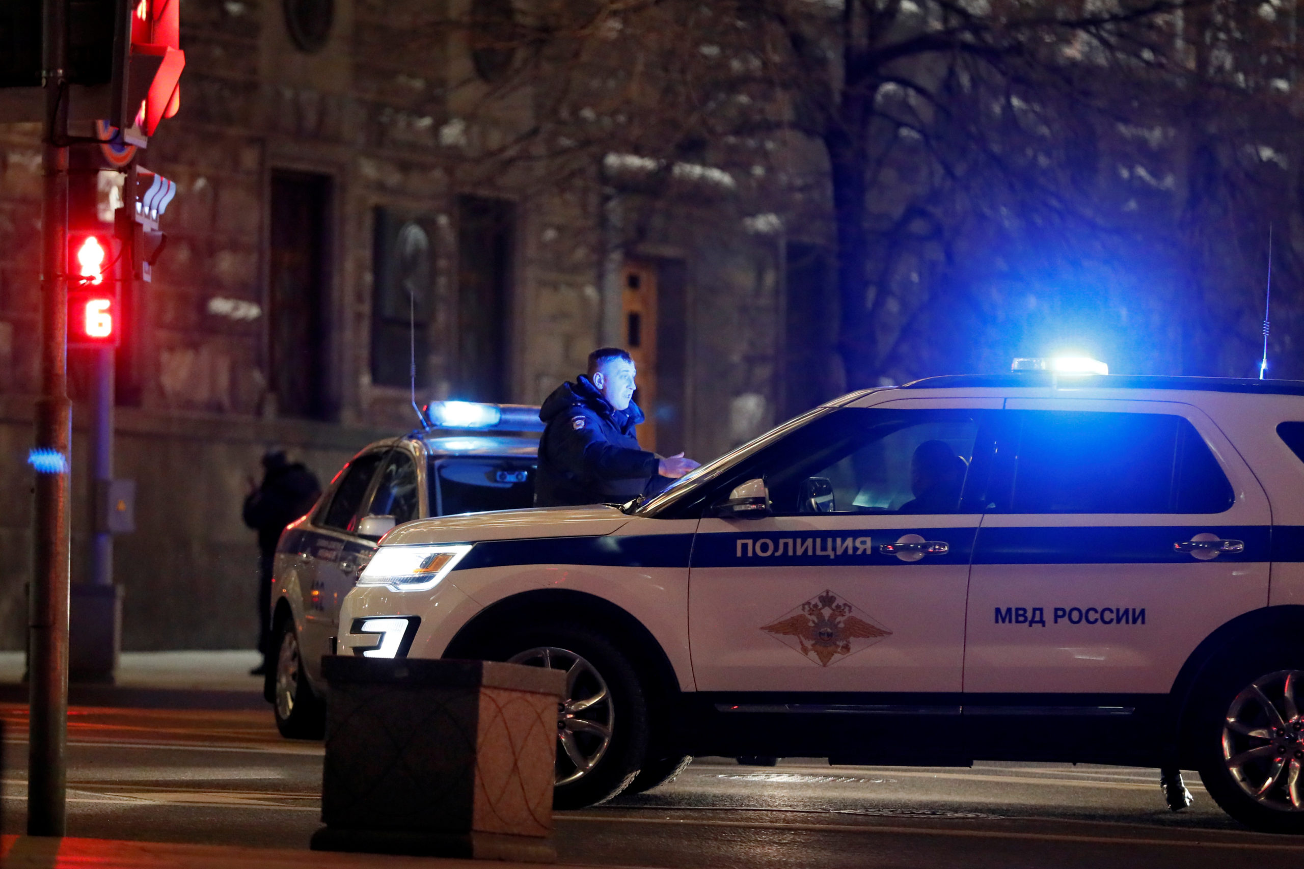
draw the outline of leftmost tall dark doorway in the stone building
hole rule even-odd
[[[329,419],[326,299],[331,180],[273,172],[267,382],[284,416]]]

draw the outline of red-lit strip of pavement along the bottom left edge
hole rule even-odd
[[[441,860],[231,846],[0,836],[5,869],[537,869],[537,862]],[[561,864],[546,864],[567,869]],[[589,868],[596,869],[596,868]]]

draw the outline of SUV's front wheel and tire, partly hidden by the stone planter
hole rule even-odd
[[[630,785],[648,748],[643,682],[605,634],[557,624],[503,630],[484,658],[567,671],[558,710],[553,808],[582,809]],[[585,769],[587,767],[587,769]]]

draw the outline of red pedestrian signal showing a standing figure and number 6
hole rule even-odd
[[[104,231],[68,234],[68,346],[116,347],[121,243]]]

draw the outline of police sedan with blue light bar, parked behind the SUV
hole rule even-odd
[[[413,519],[533,504],[537,407],[434,402],[422,415],[429,428],[360,451],[280,536],[271,590],[275,669],[265,694],[284,736],[322,733],[321,658],[334,651],[340,602],[381,535]]]

